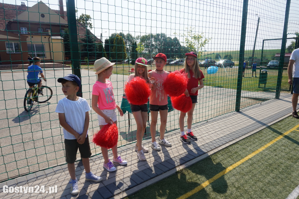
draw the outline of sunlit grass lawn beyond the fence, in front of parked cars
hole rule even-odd
[[[93,65],[82,66],[82,69],[93,69]],[[129,72],[134,68],[134,65],[129,64],[117,64],[113,67],[112,73],[120,75],[130,75]],[[175,71],[183,68],[182,65],[175,66],[166,66],[164,70],[166,71]],[[155,66],[148,65],[147,70],[154,70]],[[237,80],[238,80],[238,68],[219,68],[218,72],[215,74],[207,74],[207,69],[201,67],[202,72],[205,75],[204,84],[205,86],[217,86],[222,88],[237,89]],[[245,70],[245,78],[242,79],[242,90],[247,91],[265,91],[265,92],[275,92],[276,83],[277,83],[277,74],[278,70],[268,70],[267,83],[265,88],[259,88],[259,76],[260,69],[257,69],[257,78],[251,77],[251,69]],[[254,74],[255,76],[255,74]],[[289,89],[289,84],[287,83],[288,74],[286,70],[283,70],[283,78],[281,83],[281,89]],[[264,84],[260,84],[260,87],[263,87]],[[270,89],[269,89],[270,88]],[[284,92],[284,91],[282,91]],[[285,91],[287,92],[287,91]]]

